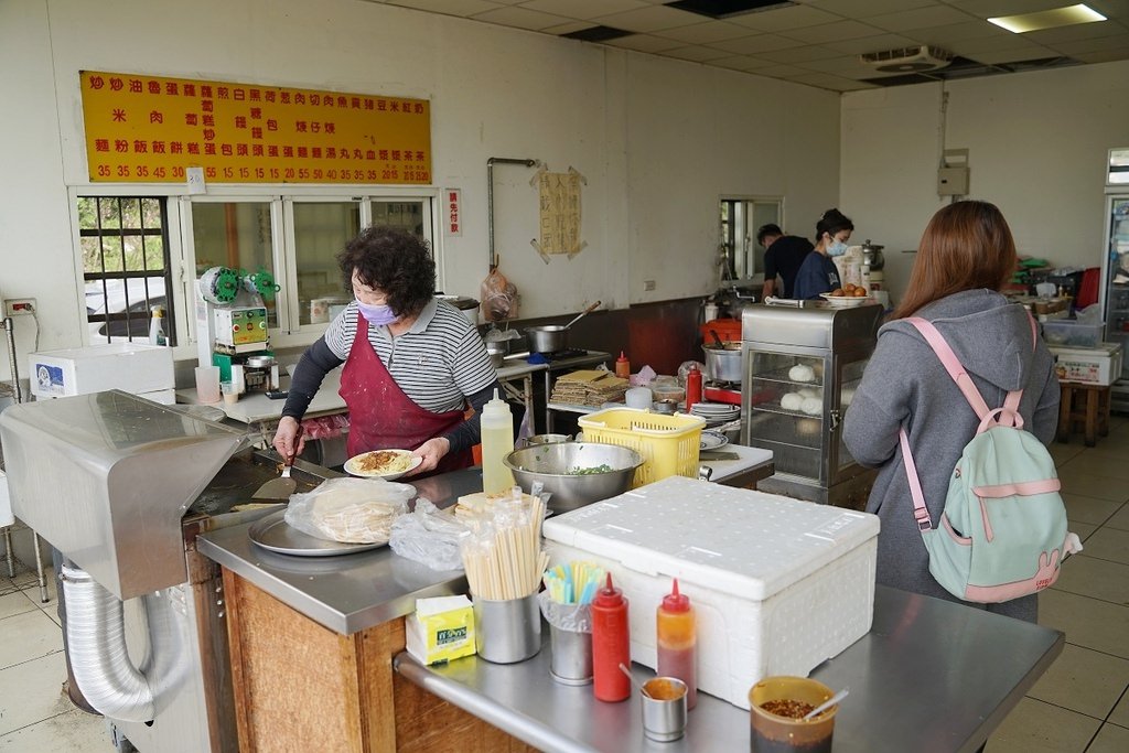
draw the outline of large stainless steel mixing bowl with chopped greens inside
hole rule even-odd
[[[564,441],[515,449],[502,458],[526,492],[534,481],[552,492],[549,509],[567,513],[631,489],[642,456],[630,447],[594,441]],[[607,465],[611,471],[577,473]]]

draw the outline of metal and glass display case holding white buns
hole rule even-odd
[[[772,450],[758,489],[860,508],[873,472],[842,441],[842,417],[877,338],[882,307],[756,305],[742,315],[742,444]]]

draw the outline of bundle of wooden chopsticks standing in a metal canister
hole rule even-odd
[[[544,517],[541,497],[523,497],[515,487],[511,499],[496,500],[488,513],[471,522],[472,533],[462,552],[473,596],[506,601],[537,590],[549,567],[549,554],[541,549]]]

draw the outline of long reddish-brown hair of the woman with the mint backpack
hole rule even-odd
[[[905,297],[894,318],[962,290],[1000,290],[1015,271],[1015,239],[1007,220],[987,201],[957,201],[925,228]]]

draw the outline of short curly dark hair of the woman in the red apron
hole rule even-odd
[[[397,316],[414,316],[435,296],[435,260],[423,238],[387,227],[367,227],[338,254],[352,291],[352,273],[383,292]]]

